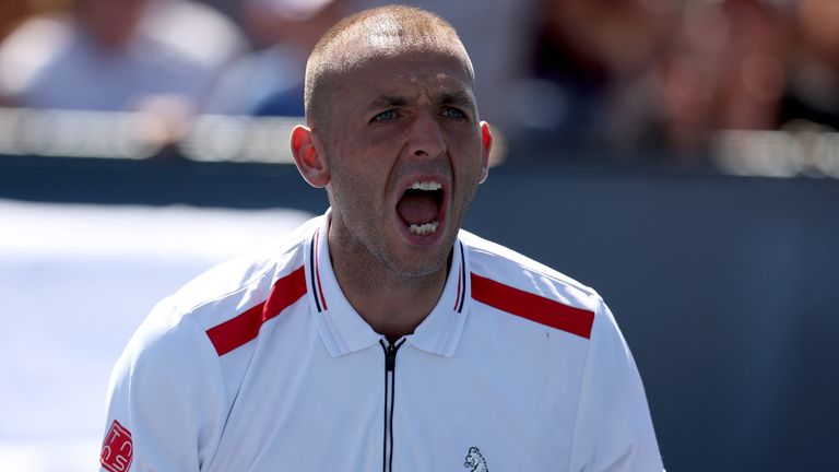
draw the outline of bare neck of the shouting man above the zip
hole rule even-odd
[[[414,332],[442,294],[448,266],[429,274],[400,276],[358,241],[330,227],[329,255],[341,291],[367,323],[388,340]]]

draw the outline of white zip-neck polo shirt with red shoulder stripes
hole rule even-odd
[[[161,302],[118,361],[102,471],[661,471],[600,296],[461,231],[437,306],[390,345],[328,215]]]

